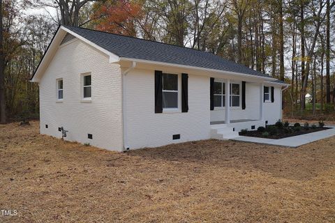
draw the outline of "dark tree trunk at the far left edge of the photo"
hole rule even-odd
[[[3,52],[2,0],[0,0],[0,123],[6,123],[5,58]]]

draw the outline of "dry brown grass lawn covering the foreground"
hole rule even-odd
[[[335,222],[335,137],[114,153],[0,125],[0,222]],[[12,180],[10,180],[12,179]],[[1,214],[1,213],[0,213]]]

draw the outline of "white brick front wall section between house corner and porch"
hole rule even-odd
[[[126,144],[131,149],[210,138],[209,77],[188,74],[187,113],[155,114],[154,69],[132,70],[126,84]],[[181,138],[172,140],[173,134]]]

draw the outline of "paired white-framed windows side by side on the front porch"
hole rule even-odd
[[[225,107],[225,82],[214,81],[214,107]],[[230,107],[241,107],[241,84],[230,83]]]

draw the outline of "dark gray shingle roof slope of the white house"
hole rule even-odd
[[[222,59],[220,56],[209,52],[91,29],[82,29],[72,26],[65,27],[119,57],[270,77],[262,72]]]

